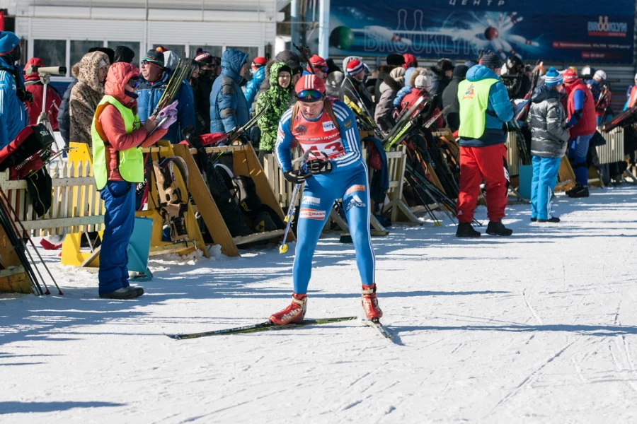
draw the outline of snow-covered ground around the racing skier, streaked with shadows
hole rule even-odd
[[[63,297],[0,298],[0,422],[635,422],[636,209],[624,186],[558,197],[558,225],[512,206],[507,238],[392,228],[374,247],[394,341],[356,321],[163,336],[267,319],[292,248],[154,258],[125,302],[50,256]],[[352,245],[322,239],[315,259],[307,317],[362,314]]]

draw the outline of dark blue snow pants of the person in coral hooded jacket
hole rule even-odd
[[[128,287],[128,243],[135,223],[134,184],[109,181],[100,192],[104,201],[104,236],[100,252],[99,293]]]

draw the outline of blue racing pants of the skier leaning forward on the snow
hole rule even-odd
[[[365,285],[374,283],[375,258],[369,233],[367,167],[361,163],[352,172],[315,175],[306,180],[301,207],[297,212],[299,223],[293,271],[294,293],[307,293],[316,243],[336,199],[343,199],[360,279]]]

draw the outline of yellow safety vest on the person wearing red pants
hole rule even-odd
[[[479,139],[484,134],[489,90],[498,83],[495,78],[481,81],[464,80],[458,85],[460,102],[460,128],[458,135],[464,139]]]

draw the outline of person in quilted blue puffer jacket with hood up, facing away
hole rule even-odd
[[[248,55],[235,49],[222,54],[222,73],[214,80],[210,92],[210,132],[229,133],[250,120],[241,81],[248,71]]]

